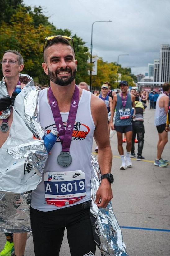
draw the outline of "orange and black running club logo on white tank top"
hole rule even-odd
[[[63,125],[66,128],[67,122],[64,122]],[[50,130],[48,130],[49,127],[51,128]],[[55,128],[55,127],[56,127],[55,124],[53,124],[51,126],[48,126],[48,128],[45,128],[45,129],[47,129],[47,133],[50,133],[52,128]],[[61,124],[59,124],[59,128],[60,127],[61,127]],[[70,127],[70,125],[68,127]],[[80,121],[75,121],[71,141],[84,140],[89,132],[90,132],[90,128],[88,126],[80,123]],[[56,142],[60,142],[59,135],[57,136]]]

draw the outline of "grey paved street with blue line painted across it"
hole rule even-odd
[[[170,255],[170,165],[166,168],[154,166],[158,134],[154,126],[155,110],[148,108],[144,114],[145,142],[143,156],[145,160],[132,158],[132,168],[119,170],[121,159],[117,150],[117,135],[111,132],[113,152],[112,206],[130,256]],[[101,131],[101,136],[104,131]],[[168,143],[162,157],[170,160],[170,132]],[[135,144],[135,153],[137,154]],[[94,153],[95,141],[93,144]],[[126,143],[123,143],[126,153]],[[41,239],[41,234],[39,234]],[[77,241],[78,242],[78,241]],[[5,243],[5,235],[0,233],[0,250]],[[50,244],[49,246],[53,246]],[[69,256],[69,247],[64,237],[60,256]],[[100,256],[99,249],[96,256]],[[27,240],[24,256],[34,256],[32,235]],[[55,256],[55,255],[49,255]]]

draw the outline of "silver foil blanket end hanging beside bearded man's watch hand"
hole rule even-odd
[[[101,255],[129,256],[123,242],[122,232],[112,210],[111,202],[106,208],[98,208],[94,203],[96,191],[100,186],[99,164],[92,155],[92,179],[91,179],[91,208],[90,219],[93,229],[94,240],[101,251]]]

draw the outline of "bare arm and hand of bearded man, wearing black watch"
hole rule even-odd
[[[98,162],[100,172],[101,174],[110,173],[112,166],[112,151],[109,140],[107,107],[104,101],[97,98],[97,101],[91,104],[91,109],[93,120],[96,125],[94,139],[98,145]],[[112,197],[111,183],[108,181],[108,179],[103,179],[99,189],[96,192],[95,203],[98,207],[105,208]]]

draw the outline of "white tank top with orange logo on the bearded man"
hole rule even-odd
[[[54,144],[51,155],[48,155],[48,159],[45,164],[44,172],[68,172],[81,170],[85,173],[85,189],[86,196],[79,200],[75,204],[80,204],[91,199],[91,152],[93,143],[93,134],[95,130],[95,124],[92,119],[91,108],[91,93],[83,90],[79,100],[78,110],[76,114],[75,125],[72,134],[72,140],[70,145],[70,154],[72,156],[72,163],[69,167],[63,168],[57,163],[57,157],[62,150],[61,142],[57,137],[57,141]],[[61,113],[64,126],[67,125],[68,119],[67,113]],[[39,121],[46,130],[52,130],[55,125],[51,107],[48,103],[47,89],[43,89],[39,92]],[[34,209],[40,211],[52,211],[63,207],[57,207],[52,204],[47,204],[45,201],[45,188],[44,188],[44,175],[42,176],[42,182],[37,186],[36,190],[32,191],[31,206]],[[68,207],[68,206],[64,206]]]

